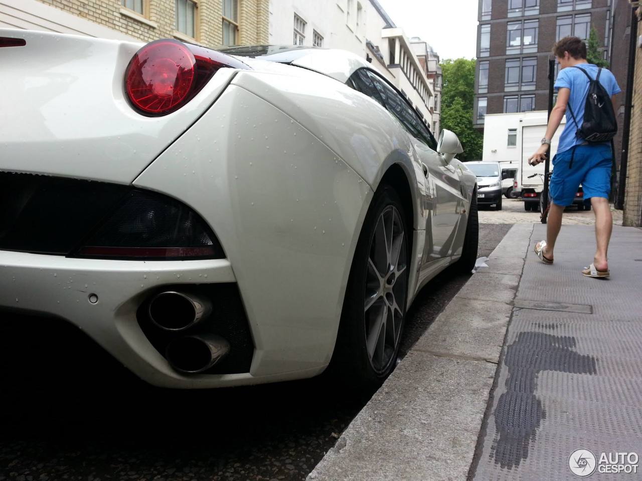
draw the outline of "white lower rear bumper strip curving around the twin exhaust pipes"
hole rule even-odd
[[[234,283],[225,259],[130,261],[75,259],[0,251],[0,319],[10,310],[40,312],[77,326],[135,375],[160,387],[220,387],[302,378],[319,369],[184,376],[172,369],[144,334],[137,310],[165,285]],[[98,298],[98,301],[90,301]],[[221,300],[224,301],[224,300]],[[1,322],[1,321],[0,321]],[[309,372],[308,372],[309,371]]]

